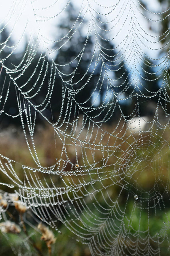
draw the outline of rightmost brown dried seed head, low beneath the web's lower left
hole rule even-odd
[[[38,229],[42,233],[41,240],[44,240],[47,246],[56,242],[56,238],[54,237],[53,232],[49,230],[49,228],[46,227],[44,224],[42,224],[42,222],[38,224]]]

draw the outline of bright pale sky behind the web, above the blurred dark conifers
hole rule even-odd
[[[25,46],[25,37],[29,40],[31,35],[35,38],[39,34],[39,49],[51,52],[53,40],[60,39],[56,34],[55,25],[61,21],[65,22],[65,9],[69,3],[76,7],[76,13],[84,16],[84,22],[80,29],[84,32],[91,30],[91,35],[99,31],[97,26],[99,22],[95,21],[97,13],[100,13],[101,21],[108,23],[110,31],[107,36],[121,51],[126,65],[132,75],[135,77],[135,66],[139,65],[138,59],[147,53],[152,58],[157,58],[159,54],[157,43],[158,38],[152,30],[149,30],[149,24],[143,17],[142,9],[137,0],[105,0],[103,6],[102,0],[7,0],[0,2],[2,24],[7,24],[12,38],[17,43],[16,51],[20,51]],[[157,0],[146,1],[150,11],[160,11],[161,6]],[[94,17],[93,17],[94,16]],[[148,14],[148,17],[158,20],[159,16]],[[159,22],[152,22],[155,27]],[[155,44],[154,44],[155,42]],[[141,48],[141,49],[140,49]],[[51,55],[52,56],[52,55]]]

